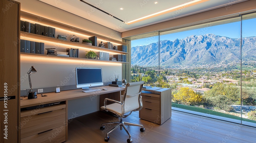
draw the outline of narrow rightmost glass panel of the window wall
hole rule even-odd
[[[242,15],[242,124],[256,127],[256,13]]]

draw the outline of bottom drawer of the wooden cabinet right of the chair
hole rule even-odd
[[[156,124],[160,124],[159,111],[142,108],[140,110],[140,118]]]

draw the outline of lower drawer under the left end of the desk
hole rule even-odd
[[[46,143],[46,142],[63,142],[66,141],[66,125],[22,138],[21,143]]]

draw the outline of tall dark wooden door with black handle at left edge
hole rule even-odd
[[[1,0],[0,7],[0,140],[13,143],[19,142],[20,3]]]

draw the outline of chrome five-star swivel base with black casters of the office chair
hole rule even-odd
[[[140,128],[140,131],[141,132],[144,132],[145,131],[145,128],[143,127],[143,125],[139,125],[139,124],[133,124],[133,123],[128,123],[128,122],[123,122],[122,120],[120,122],[111,122],[111,123],[103,123],[101,124],[101,127],[100,127],[100,130],[104,130],[105,129],[105,126],[104,125],[109,125],[109,124],[117,124],[114,128],[112,128],[107,134],[106,134],[106,137],[105,137],[105,141],[108,142],[109,141],[109,134],[115,130],[116,128],[118,128],[120,126],[120,130],[122,130],[124,128],[124,130],[126,131],[126,133],[129,135],[129,139],[127,139],[127,143],[132,143],[132,138],[131,138],[131,134],[128,132],[128,130],[126,129],[125,125],[128,125],[128,126],[139,126],[141,127]]]

